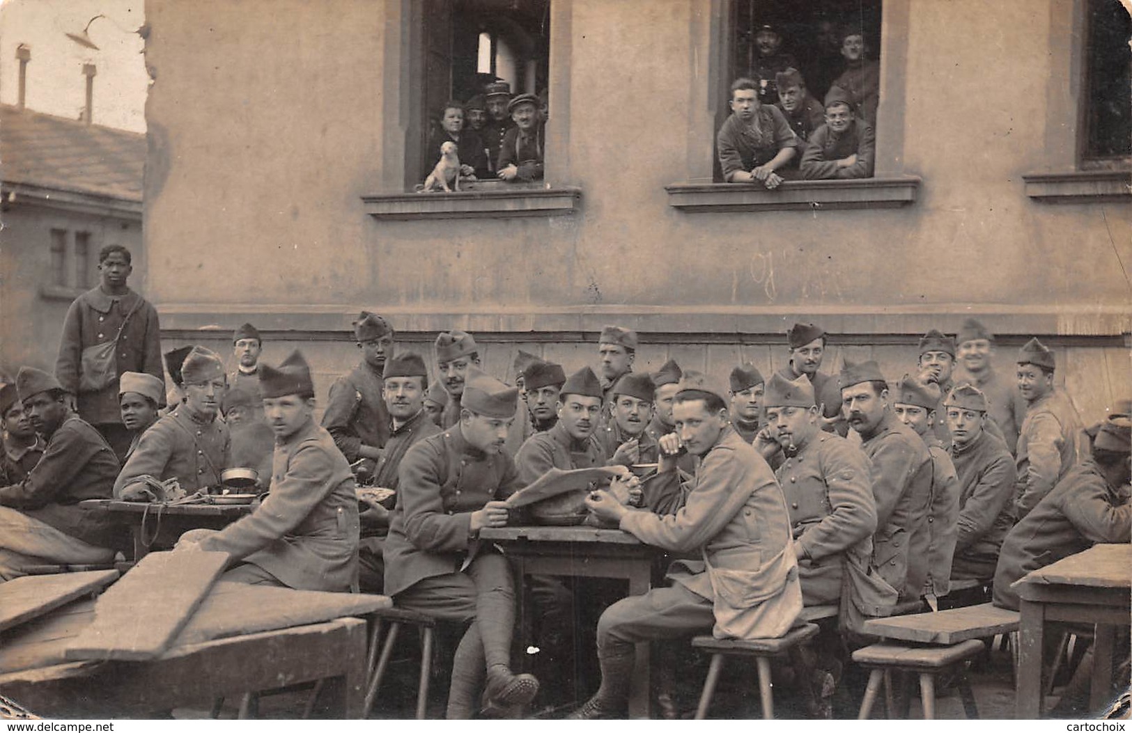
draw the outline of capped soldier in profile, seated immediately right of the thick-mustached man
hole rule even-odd
[[[951,559],[955,553],[955,521],[959,518],[959,477],[955,466],[951,463],[951,441],[946,446],[932,430],[935,414],[943,400],[940,397],[940,386],[923,381],[919,377],[906,374],[900,381],[893,412],[897,419],[911,428],[927,446],[932,456],[932,484],[924,507],[915,511],[926,512],[927,520],[924,532],[912,535],[909,547],[909,585],[919,576],[912,576],[912,569],[923,568],[923,596],[933,610],[938,609],[938,598],[947,595],[951,589]],[[916,562],[923,558],[924,562]]]

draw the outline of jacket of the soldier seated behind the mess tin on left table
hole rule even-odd
[[[220,475],[232,467],[232,438],[228,424],[214,417],[199,423],[181,403],[149,426],[130,454],[114,482],[114,495],[131,480],[149,474],[158,481],[175,477],[188,493],[220,484]]]

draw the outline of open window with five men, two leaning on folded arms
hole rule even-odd
[[[736,0],[728,7],[730,57],[713,81],[721,101],[715,112],[715,181],[774,189],[782,180],[798,178],[871,176],[881,89],[882,0]],[[753,97],[749,114],[735,103],[732,84],[739,79],[749,80],[744,86],[753,89],[741,95]],[[846,130],[826,128],[831,94],[844,100],[848,120],[861,122],[849,126],[851,140],[839,144]],[[858,150],[866,129],[867,165]],[[792,145],[786,143],[790,137],[786,130],[792,132]],[[823,130],[818,145],[835,155],[825,159],[846,161],[838,171],[861,164],[838,175],[813,171],[800,175],[799,163],[818,130]],[[792,155],[783,153],[788,147]]]

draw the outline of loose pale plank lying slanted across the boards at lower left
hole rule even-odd
[[[228,562],[225,552],[151,552],[94,606],[68,659],[152,659],[188,623]]]

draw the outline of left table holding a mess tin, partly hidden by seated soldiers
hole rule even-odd
[[[135,562],[149,550],[171,549],[189,529],[223,529],[251,514],[249,505],[160,505],[87,499],[79,506],[87,511],[105,512],[112,521],[130,531]]]

